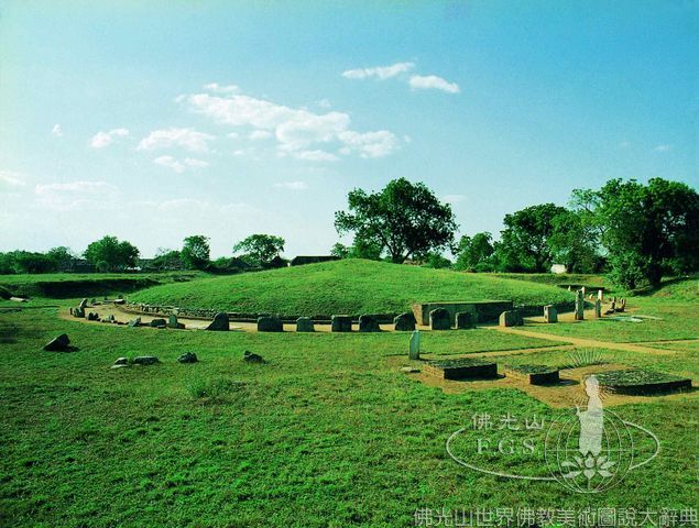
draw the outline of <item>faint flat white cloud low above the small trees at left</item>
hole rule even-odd
[[[119,189],[106,182],[67,182],[39,184],[36,204],[58,211],[105,210],[117,205]]]

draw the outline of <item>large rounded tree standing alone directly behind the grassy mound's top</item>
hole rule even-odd
[[[451,208],[424,184],[400,178],[379,193],[354,189],[347,199],[349,212],[335,213],[335,228],[353,232],[354,245],[379,246],[395,263],[454,246],[458,226]]]

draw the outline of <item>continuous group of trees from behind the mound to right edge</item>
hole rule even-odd
[[[451,207],[424,184],[400,178],[378,193],[349,194],[335,226],[353,233],[353,243],[332,253],[468,272],[545,273],[561,264],[571,273],[607,273],[632,289],[699,268],[699,195],[678,182],[611,179],[600,189],[575,189],[568,207],[526,207],[503,224],[500,240],[481,232],[457,243]]]

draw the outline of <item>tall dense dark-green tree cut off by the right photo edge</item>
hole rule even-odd
[[[612,179],[586,193],[616,284],[657,286],[664,274],[699,267],[699,195],[688,185]]]

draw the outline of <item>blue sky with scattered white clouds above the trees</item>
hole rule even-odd
[[[0,251],[325,254],[407,177],[461,233],[613,177],[699,183],[699,6],[0,3]]]

